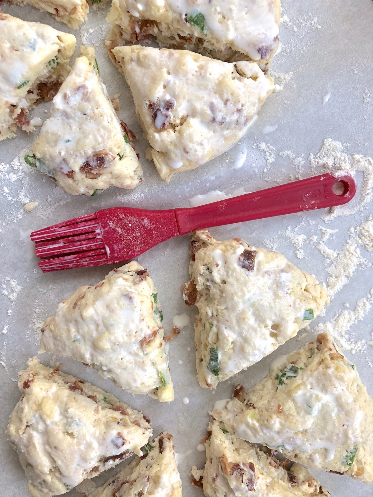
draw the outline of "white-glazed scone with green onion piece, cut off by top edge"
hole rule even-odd
[[[279,47],[280,0],[113,0],[106,45],[155,37],[226,62],[256,61],[267,73]]]

